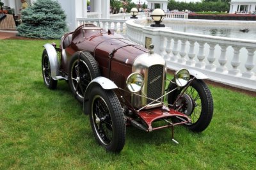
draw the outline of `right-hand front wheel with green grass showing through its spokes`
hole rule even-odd
[[[176,84],[169,84],[168,91],[176,88]],[[168,95],[168,104],[173,104],[184,88],[175,89]],[[213,100],[211,91],[204,81],[194,79],[185,91],[184,95],[177,100],[173,107],[190,119],[191,123],[186,124],[190,130],[202,132],[209,126],[213,114]]]

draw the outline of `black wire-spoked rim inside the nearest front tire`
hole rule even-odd
[[[92,102],[93,128],[103,144],[111,143],[113,137],[113,125],[109,108],[106,102],[99,95],[93,98]]]

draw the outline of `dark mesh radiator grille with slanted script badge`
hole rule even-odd
[[[147,96],[149,98],[157,99],[162,95],[163,87],[163,65],[153,65],[148,68],[148,90]],[[152,100],[147,99],[147,104],[152,102]],[[154,102],[153,104],[156,104]]]

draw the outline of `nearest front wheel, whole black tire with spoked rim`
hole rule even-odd
[[[90,93],[90,123],[97,142],[115,153],[124,148],[126,127],[118,98],[111,90],[95,86]]]

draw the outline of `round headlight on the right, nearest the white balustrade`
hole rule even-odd
[[[174,73],[174,80],[177,86],[180,86],[180,87],[185,86],[188,83],[189,78],[190,78],[190,74],[186,69],[181,69]]]

